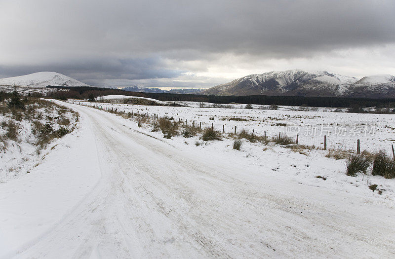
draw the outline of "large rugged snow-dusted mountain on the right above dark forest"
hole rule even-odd
[[[395,78],[392,75],[356,77],[327,71],[272,71],[251,74],[229,83],[204,90],[213,95],[275,95],[395,98]]]

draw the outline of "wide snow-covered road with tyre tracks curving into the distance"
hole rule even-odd
[[[392,201],[185,152],[114,114],[61,104],[96,140],[101,178],[17,258],[395,257]]]

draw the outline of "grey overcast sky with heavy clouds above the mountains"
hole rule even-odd
[[[0,77],[208,88],[273,70],[395,75],[395,0],[0,0]]]

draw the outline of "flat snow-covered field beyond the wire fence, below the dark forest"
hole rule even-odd
[[[361,150],[375,151],[381,148],[391,151],[395,142],[395,117],[393,114],[362,114],[347,112],[332,112],[336,108],[317,108],[316,111],[297,111],[299,107],[280,106],[279,110],[259,110],[260,106],[253,105],[254,110],[243,109],[245,105],[227,105],[232,109],[199,108],[197,102],[176,102],[187,107],[140,106],[109,103],[88,103],[72,101],[83,105],[91,105],[103,109],[117,111],[140,112],[157,114],[159,117],[168,116],[176,120],[188,120],[188,123],[202,128],[213,123],[214,128],[225,132],[246,129],[249,132],[263,136],[277,136],[285,132],[283,124],[288,122],[300,126],[299,144],[323,147],[324,135],[327,135],[328,148],[343,148],[356,150],[357,139],[360,139]],[[170,102],[173,103],[173,102]],[[206,106],[212,104],[206,103]],[[340,109],[341,110],[341,109]],[[242,118],[244,121],[229,120]],[[245,121],[246,120],[246,121]]]

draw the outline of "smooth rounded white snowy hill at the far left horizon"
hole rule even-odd
[[[90,86],[82,83],[74,78],[56,72],[38,72],[8,78],[0,79],[0,85],[17,86],[34,86],[46,87],[50,86]]]

